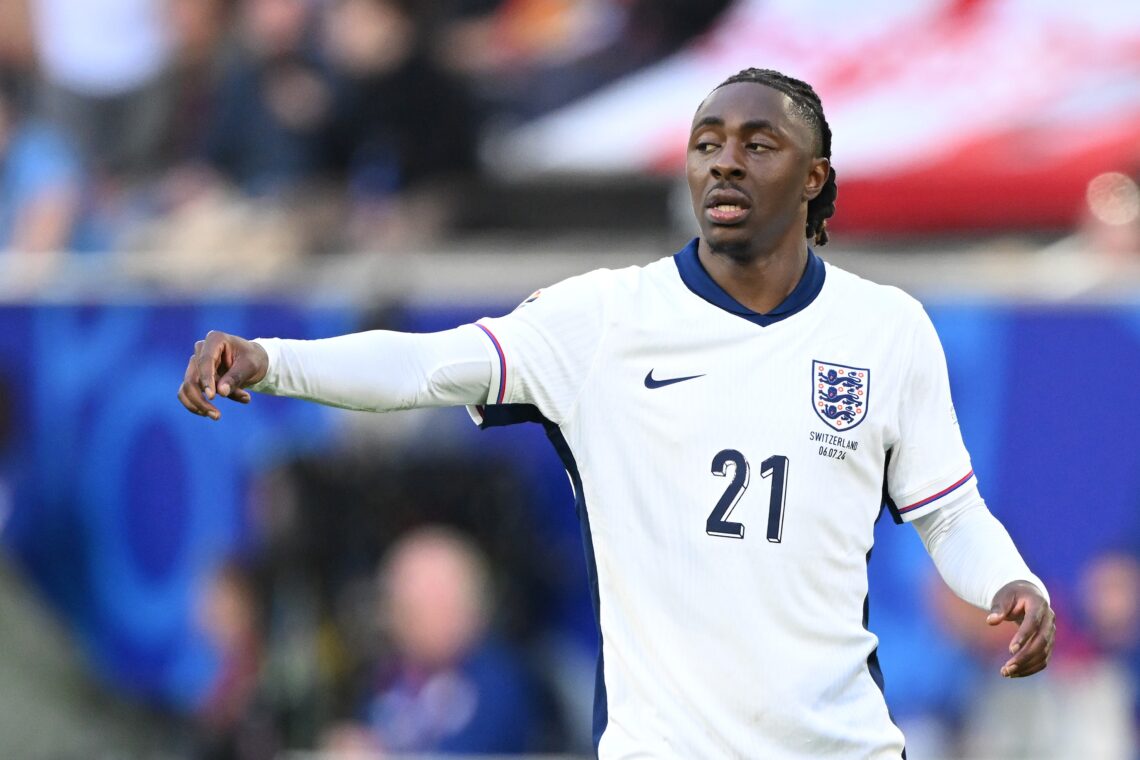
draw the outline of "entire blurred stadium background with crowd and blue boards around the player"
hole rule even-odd
[[[813,82],[836,263],[927,304],[1054,664],[880,521],[912,758],[1137,758],[1140,5],[5,0],[0,757],[588,754],[540,431],[174,399],[207,329],[432,330],[693,232],[700,99]],[[450,664],[441,664],[450,663]]]

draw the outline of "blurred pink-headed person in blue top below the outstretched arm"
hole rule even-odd
[[[487,562],[465,538],[421,528],[381,565],[391,652],[370,675],[359,722],[331,750],[518,753],[534,749],[536,700],[518,656],[490,632]]]

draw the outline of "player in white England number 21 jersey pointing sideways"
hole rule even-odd
[[[807,245],[836,198],[812,88],[730,77],[687,155],[701,235],[675,256],[445,333],[210,333],[179,398],[540,422],[583,522],[600,757],[905,757],[866,629],[883,505],[990,624],[1019,623],[1003,676],[1045,667],[1048,595],[978,493],[921,305]]]

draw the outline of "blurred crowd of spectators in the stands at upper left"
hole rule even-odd
[[[278,260],[447,229],[484,130],[728,0],[7,0],[0,251]]]

